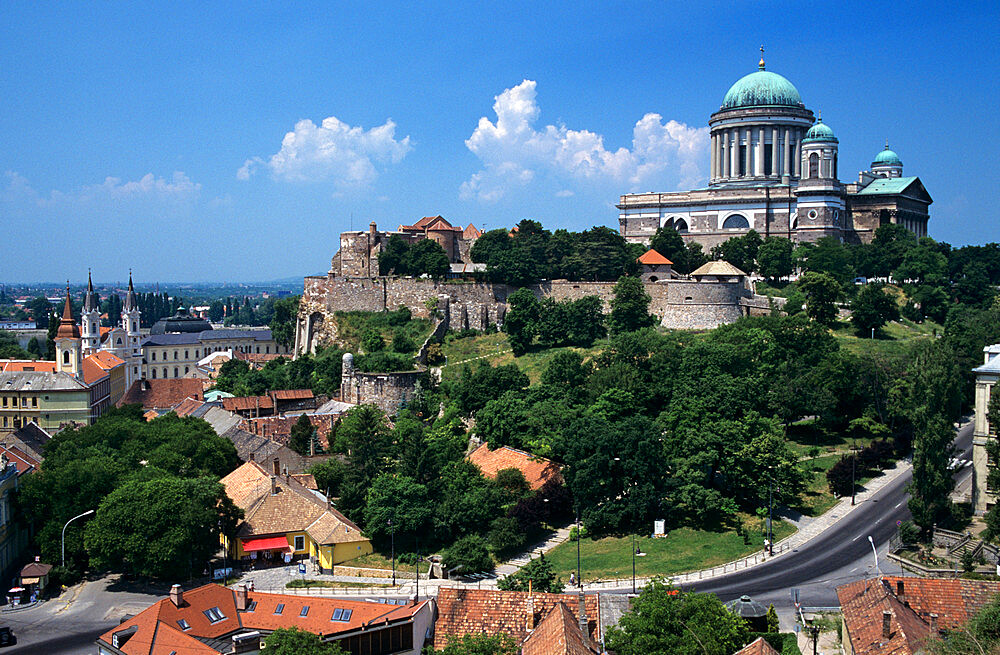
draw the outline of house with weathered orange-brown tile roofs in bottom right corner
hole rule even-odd
[[[847,655],[915,655],[1000,593],[1000,582],[883,576],[837,587]]]

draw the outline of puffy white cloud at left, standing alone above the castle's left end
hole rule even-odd
[[[278,152],[266,161],[247,159],[236,177],[248,180],[266,168],[281,180],[332,179],[340,188],[366,186],[378,176],[377,164],[397,164],[413,149],[410,137],[395,137],[396,124],[391,119],[369,130],[351,127],[335,116],[324,118],[320,125],[300,120],[281,140]]]

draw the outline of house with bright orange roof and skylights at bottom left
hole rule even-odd
[[[235,590],[208,584],[170,595],[97,639],[100,655],[222,655],[261,652],[261,638],[298,628],[350,655],[420,655],[434,601],[341,600]],[[266,649],[263,652],[267,652]]]

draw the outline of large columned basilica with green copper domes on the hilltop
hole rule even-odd
[[[868,243],[888,223],[927,235],[930,195],[903,162],[880,151],[856,182],[841,182],[839,141],[787,79],[765,69],[729,89],[709,118],[708,186],[673,193],[630,193],[617,205],[626,240],[648,242],[670,226],[707,250],[756,230],[794,242],[836,237]]]

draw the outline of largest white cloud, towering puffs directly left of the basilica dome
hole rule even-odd
[[[524,80],[506,89],[493,104],[496,122],[485,116],[479,119],[465,145],[479,157],[483,169],[462,183],[463,199],[498,200],[538,173],[576,182],[614,182],[629,189],[647,183],[680,188],[705,178],[708,128],[673,120],[663,123],[659,114],[646,114],[633,128],[632,149],[612,151],[604,147],[603,136],[589,130],[564,125],[536,129],[541,113],[536,86]],[[560,191],[560,197],[564,191],[569,190]]]

